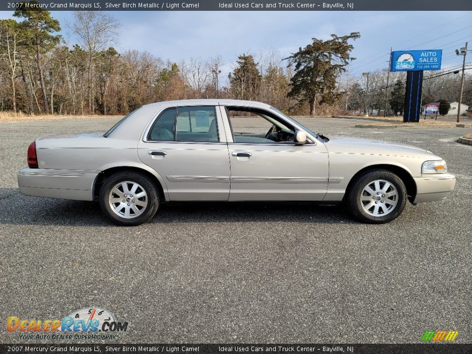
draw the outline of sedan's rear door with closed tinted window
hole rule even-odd
[[[165,181],[170,201],[227,201],[230,166],[220,110],[161,111],[138,144],[138,156]]]

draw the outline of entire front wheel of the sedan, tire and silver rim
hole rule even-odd
[[[365,223],[385,224],[400,215],[407,200],[405,183],[387,170],[370,170],[354,181],[346,206]]]

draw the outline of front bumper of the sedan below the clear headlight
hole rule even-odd
[[[436,202],[447,198],[456,185],[454,175],[415,177],[416,197],[413,203]]]

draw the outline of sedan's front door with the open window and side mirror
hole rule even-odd
[[[221,114],[230,123],[230,201],[323,200],[328,184],[328,154],[323,143],[315,139],[305,145],[272,142],[263,138],[264,133],[254,132],[258,124],[251,119],[256,117],[237,117],[243,121],[239,125],[244,130],[238,134],[238,124],[228,112],[222,107]],[[282,119],[273,112],[267,111],[266,115]],[[289,126],[290,122],[284,124]],[[296,129],[293,125],[291,128]]]

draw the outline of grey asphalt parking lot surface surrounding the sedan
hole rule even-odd
[[[418,343],[425,330],[472,342],[472,146],[455,142],[472,129],[300,119],[328,137],[402,142],[447,161],[451,196],[407,204],[386,225],[269,203],[164,206],[120,228],[97,204],[19,193],[36,137],[116,120],[0,123],[0,342],[25,342],[6,331],[8,316],[61,319],[89,306],[129,323],[111,343]]]

